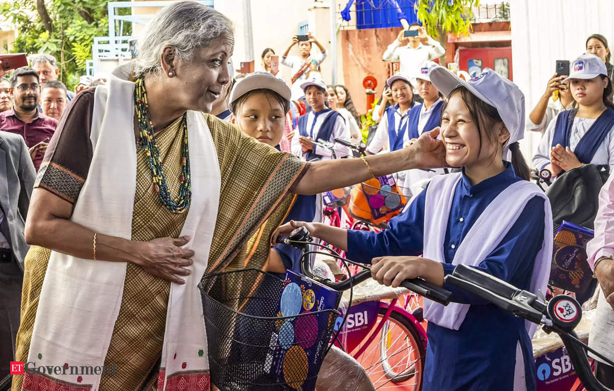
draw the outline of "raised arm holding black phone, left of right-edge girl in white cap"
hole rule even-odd
[[[546,91],[529,113],[525,124],[527,131],[544,133],[550,121],[560,112],[571,110],[575,101],[569,89],[569,82],[562,81],[569,75],[569,61],[557,60],[556,72],[548,80]]]

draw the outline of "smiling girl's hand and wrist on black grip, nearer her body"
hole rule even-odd
[[[385,286],[396,288],[404,280],[418,277],[443,286],[443,266],[434,260],[410,256],[377,257],[371,263],[371,276]]]

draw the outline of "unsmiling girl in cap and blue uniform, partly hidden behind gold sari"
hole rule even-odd
[[[279,148],[284,135],[290,88],[268,72],[254,72],[236,83],[230,96],[231,123],[260,142]],[[292,196],[289,196],[292,197]],[[291,219],[314,221],[316,196],[295,195],[284,222]],[[280,273],[299,271],[301,250],[289,245],[271,248],[265,270]]]

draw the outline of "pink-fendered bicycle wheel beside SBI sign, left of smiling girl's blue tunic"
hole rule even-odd
[[[371,338],[381,322],[383,327],[356,360],[367,371],[375,389],[421,390],[426,351],[419,333],[410,319],[394,309],[384,321],[386,311],[385,307],[379,308],[378,320],[363,341]]]

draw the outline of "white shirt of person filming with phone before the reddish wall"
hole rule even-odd
[[[446,53],[443,46],[431,37],[429,37],[427,42],[428,45],[419,44],[416,48],[411,47],[409,44],[399,46],[400,44],[398,39],[395,39],[392,44],[388,45],[382,58],[384,61],[400,62],[399,72],[412,79],[420,73],[420,68],[424,61],[439,58]],[[413,85],[415,86],[416,83],[413,83]]]

